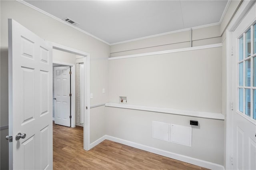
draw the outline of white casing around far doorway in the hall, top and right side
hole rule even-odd
[[[71,67],[71,72],[73,74],[71,74],[71,127],[74,128],[76,127],[76,78],[75,78],[75,65],[71,64],[71,63],[64,63],[64,62],[60,62],[60,61],[52,61],[53,64],[60,64],[60,65],[66,65],[66,66],[70,66]],[[54,67],[54,66],[52,66]]]

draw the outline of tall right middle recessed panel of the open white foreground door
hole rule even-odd
[[[40,114],[48,113],[48,71],[40,70]]]

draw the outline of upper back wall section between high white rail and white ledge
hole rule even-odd
[[[109,102],[221,113],[221,47],[109,61]]]

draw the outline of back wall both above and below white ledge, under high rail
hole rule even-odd
[[[109,60],[109,102],[222,112],[222,47]],[[125,104],[124,104],[125,105]],[[152,121],[189,125],[192,147],[153,139]],[[106,107],[106,134],[223,165],[224,121]],[[212,134],[212,135],[210,135]]]

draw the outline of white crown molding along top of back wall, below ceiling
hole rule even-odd
[[[192,28],[185,28],[185,29],[182,29],[182,30],[174,30],[174,31],[171,31],[171,32],[164,32],[164,33],[161,33],[161,34],[155,34],[155,35],[152,35],[152,36],[135,38],[135,39],[132,39],[132,40],[126,40],[126,41],[122,41],[122,42],[110,43],[109,45],[116,45],[116,44],[128,43],[128,42],[135,42],[135,41],[144,40],[144,39],[147,39],[147,38],[154,38],[154,37],[159,37],[159,36],[165,36],[165,35],[168,35],[168,34],[174,34],[174,33],[178,33],[178,32],[190,31],[191,29],[194,30],[194,29],[206,28],[206,27],[217,26],[217,25],[220,25],[220,22],[216,22],[216,23],[212,23],[212,24],[206,24],[206,25],[202,25],[202,26],[196,26],[196,27],[192,27]]]

